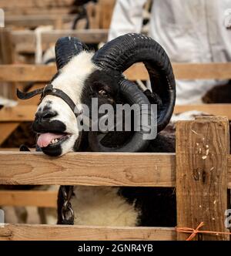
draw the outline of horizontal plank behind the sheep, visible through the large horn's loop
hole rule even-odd
[[[64,34],[63,34],[64,35]],[[55,37],[55,35],[54,35]],[[54,38],[55,40],[55,38]],[[25,42],[23,42],[25,43]],[[174,70],[176,72],[176,79],[230,79],[231,78],[231,63],[208,63],[208,64],[197,64],[197,69],[203,69],[200,76],[196,70],[193,70],[193,66],[196,64],[173,64]],[[186,76],[181,70],[189,69],[190,74]],[[219,72],[213,72],[213,69],[219,70]],[[210,71],[208,71],[210,70]],[[223,70],[223,71],[222,71]],[[56,68],[53,66],[45,65],[1,65],[0,66],[0,82],[47,82],[55,74]],[[209,76],[208,76],[208,72]],[[130,80],[146,80],[148,79],[148,74],[143,65],[137,63],[133,65],[130,69],[125,72],[126,76]]]

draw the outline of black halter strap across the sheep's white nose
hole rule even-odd
[[[72,112],[75,114],[75,116],[79,116],[79,111],[76,108],[75,103],[73,100],[64,93],[61,89],[53,88],[52,84],[49,83],[47,86],[41,89],[35,89],[34,91],[30,93],[23,93],[17,89],[17,96],[19,99],[31,99],[32,97],[41,94],[40,101],[47,95],[53,95],[61,98],[69,105],[69,107],[72,109]]]

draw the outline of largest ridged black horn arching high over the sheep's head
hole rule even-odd
[[[171,62],[162,46],[140,34],[126,34],[106,43],[92,58],[105,72],[121,76],[136,62],[143,62],[149,72],[152,93],[159,96],[157,130],[169,123],[176,100],[176,83]]]

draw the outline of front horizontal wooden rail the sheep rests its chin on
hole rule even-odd
[[[0,184],[173,187],[174,170],[171,153],[0,152]]]

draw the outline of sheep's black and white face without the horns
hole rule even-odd
[[[51,81],[54,89],[61,89],[78,106],[79,113],[85,104],[92,109],[92,98],[98,106],[115,102],[118,86],[111,77],[103,74],[92,62],[92,54],[81,52],[73,57]],[[79,116],[81,118],[81,116]],[[42,99],[32,124],[38,133],[38,145],[50,156],[61,156],[79,148],[82,132],[75,113],[65,101],[47,95]]]

